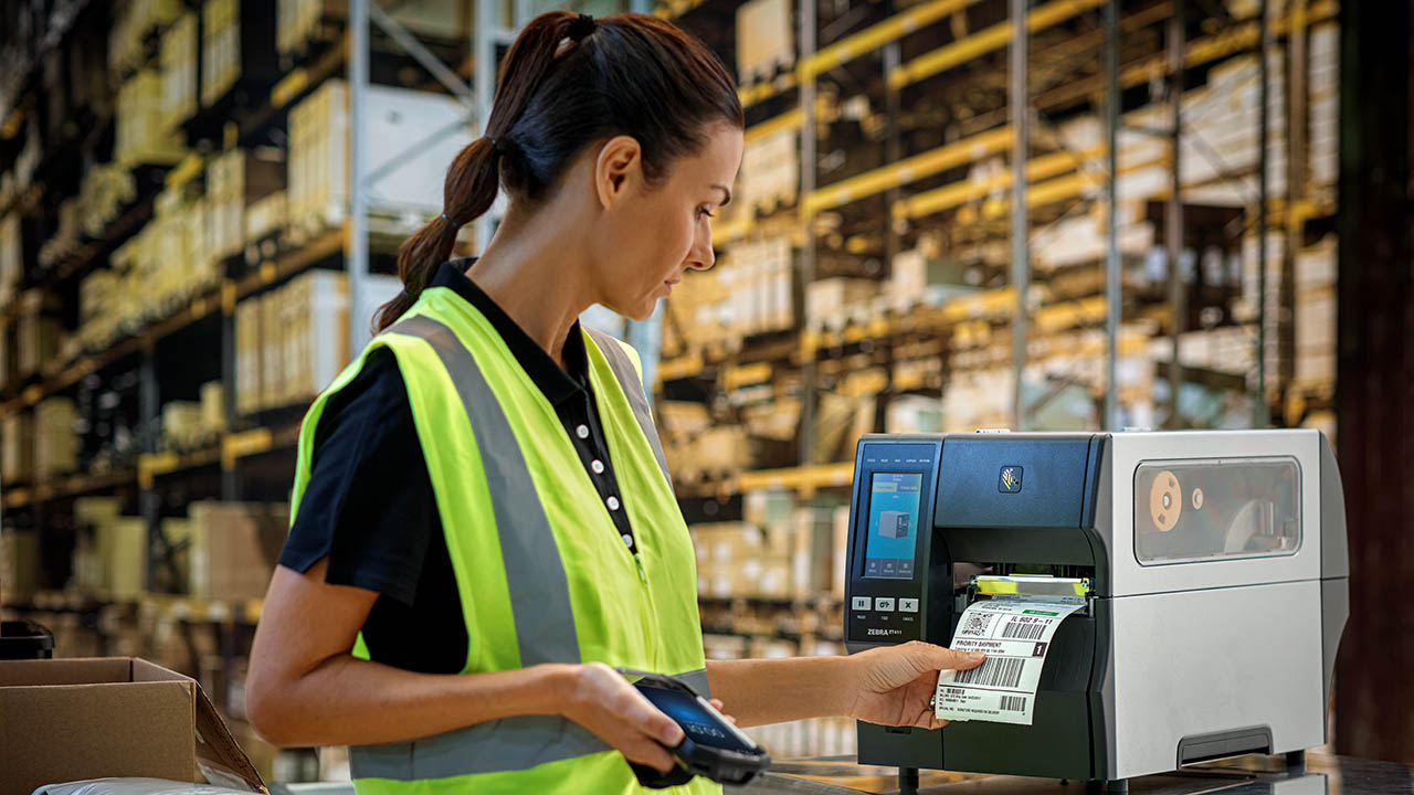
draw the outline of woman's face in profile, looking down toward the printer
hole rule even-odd
[[[602,252],[594,280],[604,306],[645,320],[687,269],[713,266],[711,218],[731,199],[741,149],[741,129],[720,123],[697,154],[670,166],[660,184],[646,185],[641,168],[625,171],[624,192],[604,218],[604,245],[595,246]]]

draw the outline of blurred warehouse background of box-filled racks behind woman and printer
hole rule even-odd
[[[747,109],[717,266],[587,317],[645,356],[708,656],[843,652],[861,433],[1318,427],[1353,569],[1335,748],[1414,761],[1401,1],[0,3],[6,617],[198,678],[267,781],[346,775],[240,721],[298,423],[554,7],[672,18]]]

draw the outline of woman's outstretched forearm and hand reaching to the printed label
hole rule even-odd
[[[707,663],[711,695],[741,726],[848,716],[884,726],[937,729],[929,699],[937,672],[983,655],[913,641],[850,656],[727,659]]]

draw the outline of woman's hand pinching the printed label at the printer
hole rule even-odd
[[[942,729],[947,721],[935,717],[932,706],[937,672],[976,668],[984,656],[922,641],[851,655],[848,716],[880,726]]]

